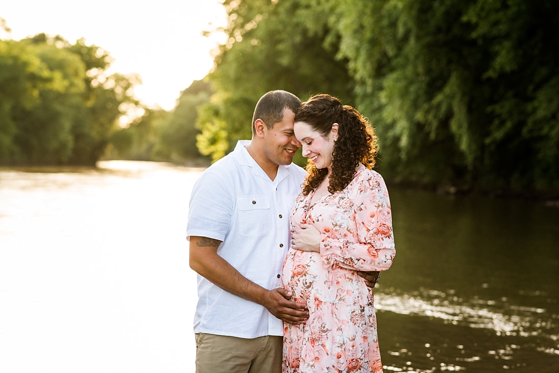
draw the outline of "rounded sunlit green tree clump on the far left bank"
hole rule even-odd
[[[136,78],[106,74],[110,63],[83,40],[0,40],[0,164],[94,165],[123,105],[136,104]]]

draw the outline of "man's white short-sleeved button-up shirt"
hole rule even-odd
[[[245,145],[212,164],[195,183],[188,211],[187,238],[222,241],[217,253],[256,284],[280,284],[289,247],[289,216],[305,170],[279,166],[276,178],[250,156]],[[282,336],[283,324],[263,306],[233,295],[198,275],[195,333],[241,338]]]

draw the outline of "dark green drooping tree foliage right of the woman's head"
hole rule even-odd
[[[557,188],[559,4],[326,2],[387,173],[484,190]]]

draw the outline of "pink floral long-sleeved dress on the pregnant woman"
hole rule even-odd
[[[283,286],[307,303],[305,324],[283,327],[283,372],[382,372],[373,292],[356,271],[385,271],[396,251],[380,174],[357,171],[343,191],[310,205],[297,197],[291,226],[312,224],[320,253],[290,248]]]

